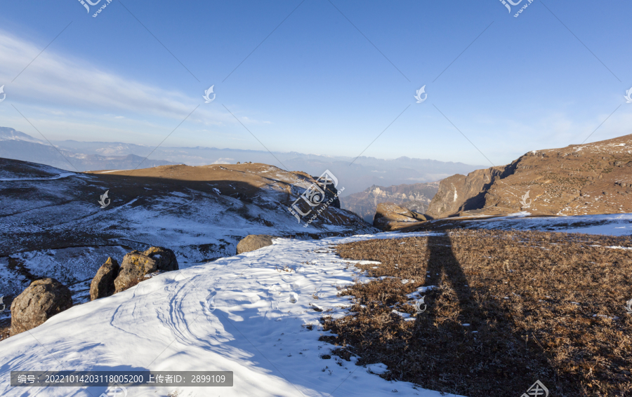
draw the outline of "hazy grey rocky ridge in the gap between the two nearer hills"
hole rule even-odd
[[[341,198],[341,206],[373,223],[378,203],[388,201],[416,213],[425,213],[438,189],[439,182],[398,184],[389,187],[373,185],[367,190]]]

